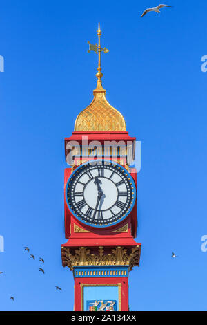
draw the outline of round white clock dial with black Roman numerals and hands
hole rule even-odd
[[[108,161],[79,167],[66,192],[70,210],[89,225],[119,221],[135,201],[135,187],[126,169]]]

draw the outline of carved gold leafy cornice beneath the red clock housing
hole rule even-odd
[[[63,266],[68,266],[73,270],[74,266],[129,266],[132,270],[134,266],[139,266],[141,248],[139,245],[133,248],[124,248],[117,246],[108,248],[105,252],[103,246],[92,248],[68,248],[62,247],[62,262]]]

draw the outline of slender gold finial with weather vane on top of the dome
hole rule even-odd
[[[90,44],[90,41],[88,41],[88,44],[89,44],[89,50],[88,50],[88,53],[90,51],[94,51],[95,53],[97,53],[99,55],[99,63],[98,63],[98,68],[97,68],[97,88],[95,89],[95,92],[96,91],[105,91],[102,87],[102,84],[101,84],[101,77],[103,77],[103,73],[101,73],[101,52],[103,53],[108,53],[109,50],[107,48],[101,48],[101,29],[100,29],[100,23],[99,23],[99,28],[97,30],[97,35],[98,35],[98,38],[99,38],[99,43],[97,44]]]

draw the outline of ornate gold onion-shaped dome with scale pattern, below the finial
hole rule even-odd
[[[75,131],[126,131],[124,117],[106,100],[101,84],[93,91],[94,99],[75,121]]]

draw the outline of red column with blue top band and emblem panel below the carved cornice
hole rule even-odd
[[[128,310],[128,266],[74,268],[75,310]]]

